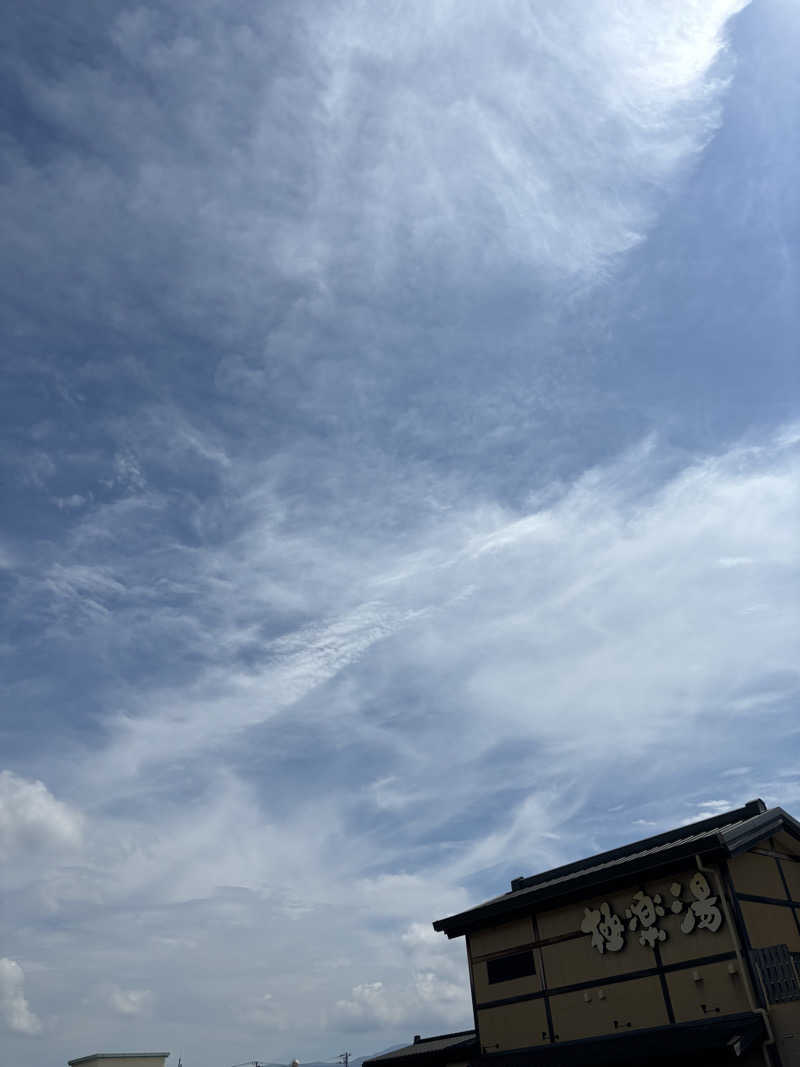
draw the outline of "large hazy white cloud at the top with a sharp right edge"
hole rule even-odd
[[[342,307],[351,341],[372,347],[363,308],[384,308],[390,292],[413,288],[425,305],[430,286],[463,310],[459,292],[484,305],[509,287],[603,276],[717,127],[716,64],[745,5],[410,0],[387,18],[368,4],[299,3],[290,15],[234,7],[225,32],[215,4],[191,27],[124,11],[111,36],[163,95],[121,83],[99,60],[58,80],[20,68],[42,121],[67,139],[91,124],[112,165],[15,158],[10,246],[44,248],[36,220],[53,219],[43,269],[71,322],[90,320],[102,294],[107,321],[146,330],[119,285],[144,265],[163,287],[163,318],[202,320],[229,351],[219,381],[261,395],[275,365],[316,359],[318,328],[331,343]],[[110,245],[95,218],[114,219],[125,239]],[[76,248],[89,251],[68,276]],[[252,360],[229,343],[260,336],[266,308],[275,325]],[[173,455],[195,450],[181,421]]]

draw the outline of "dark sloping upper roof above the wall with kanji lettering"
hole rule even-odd
[[[529,878],[515,878],[511,882],[510,892],[457,915],[439,919],[433,924],[433,928],[444,930],[448,937],[458,937],[483,920],[522,911],[533,903],[558,897],[582,887],[599,887],[627,873],[646,871],[649,867],[669,863],[672,859],[709,851],[734,855],[781,828],[787,828],[800,837],[800,825],[783,809],[767,810],[763,800],[751,800],[741,808],[688,826],[676,827]]]

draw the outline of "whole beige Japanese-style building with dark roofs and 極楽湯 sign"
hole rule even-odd
[[[364,1067],[800,1067],[800,824],[763,800],[433,926],[466,941],[475,1029]]]

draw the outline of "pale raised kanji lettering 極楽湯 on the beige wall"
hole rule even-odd
[[[640,890],[625,908],[624,921],[604,902],[598,908],[583,909],[580,930],[592,935],[592,945],[601,955],[624,949],[627,931],[638,934],[640,944],[655,949],[659,941],[667,940],[668,931],[660,923],[662,919],[669,918],[668,910],[671,915],[683,914],[683,934],[691,934],[695,929],[707,929],[716,934],[722,925],[722,912],[718,907],[718,897],[711,895],[711,888],[700,871],[689,879],[689,894],[688,898],[684,896],[679,881],[673,881],[670,886],[672,899],[669,903],[660,893],[650,896]]]

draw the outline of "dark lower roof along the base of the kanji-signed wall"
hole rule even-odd
[[[480,1057],[480,1067],[583,1067],[627,1065],[731,1064],[767,1037],[764,1017],[745,1012],[717,1019],[673,1023],[625,1034],[608,1034],[579,1041],[544,1045],[516,1052],[495,1052]],[[471,1061],[477,1067],[478,1061]]]

